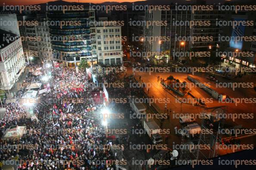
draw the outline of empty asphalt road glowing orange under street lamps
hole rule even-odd
[[[127,75],[132,75],[132,68],[128,67],[127,69]],[[174,94],[173,92],[169,91],[166,88],[163,88],[162,85],[160,84],[160,82],[157,81],[157,76],[160,76],[162,79],[166,79],[168,76],[174,76],[175,79],[179,79],[180,82],[186,81],[187,83],[189,83],[190,81],[187,79],[187,75],[188,73],[148,73],[148,72],[136,72],[135,73],[135,78],[137,80],[139,80],[139,77],[141,77],[141,81],[144,83],[148,83],[150,82],[151,87],[149,88],[149,91],[147,92],[149,96],[153,96],[155,101],[157,99],[164,99],[167,98],[169,99],[169,103],[167,104],[167,109],[172,109],[172,111],[174,111],[175,114],[179,114],[179,113],[189,113],[189,114],[199,114],[200,112],[204,111],[204,108],[201,106],[193,106],[192,104],[188,104],[188,103],[178,103],[177,101],[175,101],[176,94]],[[208,79],[206,79],[207,74],[206,73],[196,73],[195,74],[197,79],[200,79],[200,82],[203,83],[208,83],[210,87],[212,87],[213,89],[216,89],[216,91],[218,91],[219,93],[223,93],[226,94],[230,97],[256,97],[256,93],[253,91],[253,89],[245,89],[245,88],[236,88],[234,91],[232,90],[232,88],[215,88],[215,82],[211,82]],[[217,76],[219,79],[219,82],[235,82],[234,80],[228,80],[228,79],[224,79],[220,76]],[[190,82],[191,83],[191,82]],[[145,91],[147,91],[147,89],[145,88]],[[193,93],[195,96],[197,97],[201,97],[201,98],[213,98],[212,96],[210,96],[208,93],[206,93],[205,91],[203,91],[201,88],[199,87],[192,87],[191,88],[191,93]],[[186,96],[185,96],[186,97]],[[190,96],[188,96],[190,97]],[[178,97],[179,98],[179,97]],[[207,107],[217,107],[217,106],[228,106],[228,110],[226,113],[256,113],[256,103],[237,103],[237,106],[235,103],[219,103],[218,100],[213,99],[212,103],[207,103]],[[159,112],[164,113],[164,108],[165,108],[165,103],[164,102],[160,102],[160,100],[155,102],[157,109],[159,110]],[[197,123],[201,124],[201,119],[197,118]],[[241,124],[242,127],[244,128],[255,128],[255,124],[256,124],[256,118],[237,118],[234,121],[235,124]],[[163,127],[162,128],[170,128],[171,130],[171,134],[169,134],[168,137],[168,146],[169,148],[172,149],[173,146],[173,142],[175,144],[180,144],[181,143],[181,138],[178,137],[175,134],[174,131],[174,127],[175,126],[179,126],[181,127],[181,124],[178,121],[178,117],[174,116],[173,114],[170,115],[170,119],[169,120],[165,120]],[[252,142],[256,141],[256,136],[254,135],[254,137],[250,137],[250,139],[248,138],[244,138],[242,143],[244,144],[252,144]],[[165,142],[165,140],[164,140]],[[219,154],[225,154],[224,152],[220,152]]]

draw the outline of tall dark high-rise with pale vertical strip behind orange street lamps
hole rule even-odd
[[[176,24],[176,21],[191,21],[191,11],[176,11],[174,9],[146,11],[145,19],[152,22],[162,21],[162,24],[144,27],[144,52],[150,54],[144,56],[144,58],[168,62],[177,58],[175,52],[185,52],[190,49],[190,43],[181,42],[177,39],[178,36],[189,37],[191,34],[190,26]]]

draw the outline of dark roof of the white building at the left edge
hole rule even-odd
[[[17,34],[0,29],[0,49],[5,48],[18,38],[19,36]]]

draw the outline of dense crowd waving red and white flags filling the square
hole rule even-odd
[[[18,157],[18,168],[29,170],[112,169],[114,164],[108,160],[114,160],[115,156],[103,149],[109,141],[95,112],[101,105],[94,103],[91,94],[99,88],[84,72],[76,73],[75,69],[67,67],[51,71],[50,92],[40,94],[46,104],[38,103],[33,107],[38,121],[28,118],[19,102],[5,104],[6,115],[0,121],[1,137],[11,125],[26,126],[26,133],[20,139],[0,140],[0,161],[5,164]],[[36,76],[31,77],[28,75],[25,82],[38,80]],[[25,144],[36,147],[19,152],[17,148],[4,147]]]

